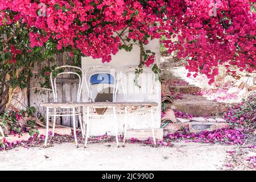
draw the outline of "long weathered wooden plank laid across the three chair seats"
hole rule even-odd
[[[51,103],[42,103],[40,106],[44,107],[125,107],[125,106],[158,106],[157,102],[51,102]]]

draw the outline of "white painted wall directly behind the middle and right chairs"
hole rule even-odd
[[[156,53],[156,63],[159,63],[160,52],[159,52],[159,40],[151,41],[146,49],[150,49],[151,51]],[[112,56],[112,61],[110,63],[102,63],[100,59],[92,59],[92,57],[82,57],[82,70],[85,72],[88,68],[93,67],[95,65],[106,65],[110,67],[114,67],[120,72],[123,68],[129,67],[131,65],[138,65],[140,58],[140,49],[137,46],[134,46],[133,51],[126,52],[125,50],[119,51],[116,55]],[[135,86],[135,85],[134,85]],[[117,101],[124,101],[121,84],[119,84],[119,92],[117,94]],[[155,128],[160,127],[161,123],[161,85],[159,81],[155,81],[153,93],[151,96],[151,100],[158,102],[159,106],[154,109],[154,124]],[[86,86],[83,87],[82,92],[82,101],[88,102],[88,93],[86,93]],[[105,114],[112,114],[113,110],[109,108]],[[148,110],[145,109],[137,109],[137,110],[129,110],[128,117],[128,129],[148,129],[149,125],[149,115]],[[85,114],[85,110],[84,110]],[[136,114],[136,115],[135,115]],[[137,115],[140,114],[140,115]],[[123,132],[123,108],[117,108],[117,119],[118,119],[118,128],[119,133]],[[114,135],[114,123],[113,117],[96,117],[92,118],[90,135],[104,135],[104,134]]]

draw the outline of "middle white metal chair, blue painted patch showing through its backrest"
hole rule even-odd
[[[119,73],[117,69],[113,67],[107,66],[94,66],[89,68],[85,72],[85,83],[86,89],[89,94],[89,102],[95,102],[96,94],[100,93],[105,88],[112,88],[112,101],[115,102],[118,92],[118,82],[119,82]],[[94,86],[94,88],[93,88]],[[100,92],[99,92],[100,91]],[[109,102],[109,101],[102,101],[102,102]],[[90,122],[92,117],[114,117],[114,127],[115,127],[115,139],[117,142],[117,147],[119,147],[118,141],[118,123],[117,123],[117,116],[115,107],[113,106],[113,114],[90,114],[93,113],[90,109],[98,109],[102,108],[99,106],[88,106],[86,109],[87,116],[86,116],[86,137],[85,137],[85,146],[87,146],[88,138],[90,136]]]

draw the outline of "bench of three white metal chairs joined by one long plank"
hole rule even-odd
[[[65,68],[72,68],[77,69],[80,73],[77,72],[71,72],[67,71],[65,72]],[[125,139],[126,139],[126,133],[127,133],[127,108],[134,108],[134,107],[147,107],[149,109],[149,117],[148,120],[150,122],[150,128],[152,131],[152,139],[154,140],[154,144],[156,144],[155,140],[155,131],[154,131],[154,115],[153,115],[153,107],[158,106],[157,102],[150,101],[150,96],[152,93],[152,86],[154,84],[155,75],[152,72],[150,68],[143,68],[144,72],[147,75],[146,80],[148,80],[149,84],[145,84],[142,81],[138,81],[137,84],[141,85],[135,85],[134,80],[133,88],[131,89],[131,85],[129,85],[127,81],[129,81],[130,73],[132,75],[135,75],[135,68],[137,66],[127,67],[124,68],[121,73],[119,73],[115,68],[113,67],[105,67],[105,66],[94,66],[89,68],[85,73],[82,71],[82,69],[72,66],[63,66],[63,67],[57,67],[54,72],[61,70],[61,72],[55,74],[55,77],[53,78],[53,72],[51,72],[51,86],[53,90],[53,98],[54,102],[50,103],[43,103],[40,104],[42,107],[46,107],[46,123],[47,123],[47,130],[46,130],[46,138],[44,142],[44,146],[47,146],[47,140],[48,140],[48,131],[49,131],[49,117],[53,116],[53,134],[54,135],[54,129],[55,129],[55,122],[57,116],[72,116],[73,119],[73,133],[75,137],[75,143],[76,147],[78,147],[77,138],[76,138],[76,116],[79,118],[79,124],[82,132],[82,137],[84,138],[84,134],[86,132],[85,136],[85,144],[84,147],[87,146],[87,141],[90,136],[90,123],[91,119],[94,117],[113,117],[113,123],[114,123],[114,130],[115,130],[115,138],[117,147],[119,147],[119,140],[118,140],[118,121],[116,116],[116,108],[125,110],[125,113],[123,115],[125,124],[123,129],[123,146],[125,145]],[[56,88],[56,79],[60,75],[64,74],[73,74],[76,75],[79,78],[79,89],[77,90],[77,100],[76,102],[59,102],[58,101],[58,94],[57,88]],[[148,77],[149,76],[149,77]],[[140,80],[138,78],[138,80]],[[143,78],[143,80],[145,80]],[[86,84],[86,90],[82,90],[83,84]],[[122,85],[122,94],[124,96],[124,100],[116,101],[117,95],[120,93],[118,90],[118,85]],[[89,95],[88,102],[81,102],[81,94],[87,93]],[[101,97],[99,98],[99,94],[106,94],[107,97]],[[136,94],[141,99],[136,99],[136,101],[133,100],[134,96],[133,94]],[[146,97],[144,97],[145,95]],[[111,96],[111,97],[109,97]],[[108,100],[110,98],[110,100]],[[146,98],[146,100],[144,100]],[[113,114],[104,114],[106,109],[113,109]],[[53,109],[53,112],[49,112],[49,109]],[[72,109],[72,111],[57,111],[58,109]],[[102,110],[103,109],[103,110]],[[82,114],[85,113],[85,114]],[[86,131],[85,131],[85,125],[86,125]]]

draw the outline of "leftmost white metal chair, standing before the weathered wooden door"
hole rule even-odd
[[[62,70],[63,69],[63,70]],[[81,76],[79,73],[77,72],[71,72],[71,71],[67,71],[67,69],[76,69],[76,71],[80,71],[81,72]],[[77,97],[76,97],[76,102],[80,102],[81,101],[81,91],[82,91],[82,85],[84,82],[84,73],[82,72],[82,69],[79,67],[73,67],[73,66],[69,66],[69,65],[64,65],[61,67],[57,67],[55,68],[55,71],[60,71],[60,73],[57,73],[56,77],[53,79],[53,72],[51,72],[50,75],[50,80],[51,80],[51,86],[52,86],[52,92],[53,92],[53,100],[54,102],[61,102],[58,100],[58,93],[57,93],[57,85],[56,85],[56,79],[58,76],[60,75],[76,75],[79,78],[79,85],[78,85],[78,89],[77,89]],[[53,108],[53,112],[49,112],[49,108],[47,107],[46,109],[46,139],[44,141],[44,146],[47,145],[47,140],[48,140],[48,131],[49,131],[49,116],[53,116],[53,129],[52,129],[52,136],[54,136],[54,131],[55,131],[55,125],[56,125],[56,117],[57,116],[61,116],[61,117],[70,117],[72,116],[73,119],[73,132],[74,132],[74,137],[75,137],[75,142],[76,142],[76,146],[78,147],[78,143],[77,143],[77,137],[76,137],[76,116],[79,117],[79,122],[80,122],[80,127],[81,127],[81,131],[82,131],[82,137],[84,138],[84,126],[82,125],[82,118],[81,118],[81,109],[80,107],[73,107],[72,105],[67,107],[67,106],[60,106],[60,109],[72,109],[72,111],[57,111],[56,107],[52,107]],[[76,111],[77,110],[77,111]]]

